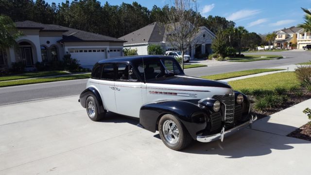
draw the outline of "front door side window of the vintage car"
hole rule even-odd
[[[137,81],[137,76],[131,65],[118,64],[118,80]]]

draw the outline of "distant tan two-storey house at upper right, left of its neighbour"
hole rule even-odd
[[[274,42],[275,48],[281,48],[281,49],[294,49],[292,47],[293,44],[296,45],[298,48],[298,32],[302,30],[301,27],[290,27],[290,28],[284,28],[276,33],[276,39]]]

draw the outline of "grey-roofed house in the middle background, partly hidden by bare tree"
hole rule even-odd
[[[119,39],[126,41],[124,48],[137,49],[138,55],[147,55],[147,48],[151,44],[160,45],[164,51],[175,51],[176,48],[166,40],[166,35],[168,35],[167,25],[169,24],[160,25],[158,22],[154,22]],[[215,35],[210,30],[205,26],[200,27],[193,38],[193,44],[189,46],[189,51],[186,54],[194,58],[198,54],[212,53],[211,43],[213,38],[215,38]]]

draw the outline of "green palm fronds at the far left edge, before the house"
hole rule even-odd
[[[0,49],[16,47],[17,39],[23,34],[17,31],[13,20],[5,15],[0,15]]]

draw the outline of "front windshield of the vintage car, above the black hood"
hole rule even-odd
[[[141,76],[145,76],[145,80],[160,77],[169,77],[174,75],[184,75],[178,62],[174,59],[144,59],[144,62],[138,66]]]

